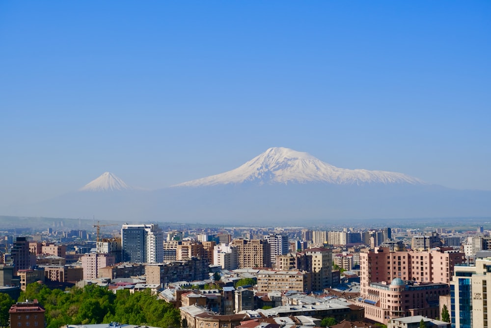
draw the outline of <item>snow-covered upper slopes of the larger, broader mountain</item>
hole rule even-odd
[[[424,184],[420,179],[412,178],[402,173],[341,169],[327,164],[306,152],[275,147],[266,150],[234,170],[180,183],[175,186],[210,186],[244,182],[258,184],[307,182],[332,184]]]

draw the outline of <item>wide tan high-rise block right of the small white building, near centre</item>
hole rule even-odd
[[[234,239],[238,268],[271,268],[271,245],[262,239]]]

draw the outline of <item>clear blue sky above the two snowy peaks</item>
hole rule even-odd
[[[0,203],[270,147],[491,189],[490,1],[1,1]]]

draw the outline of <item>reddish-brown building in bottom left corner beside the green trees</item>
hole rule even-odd
[[[10,307],[10,327],[44,327],[44,308],[37,299],[33,301],[17,302]]]

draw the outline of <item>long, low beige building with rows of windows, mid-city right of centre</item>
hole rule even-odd
[[[260,270],[257,274],[257,292],[286,292],[296,291],[310,293],[311,273],[300,271]]]

